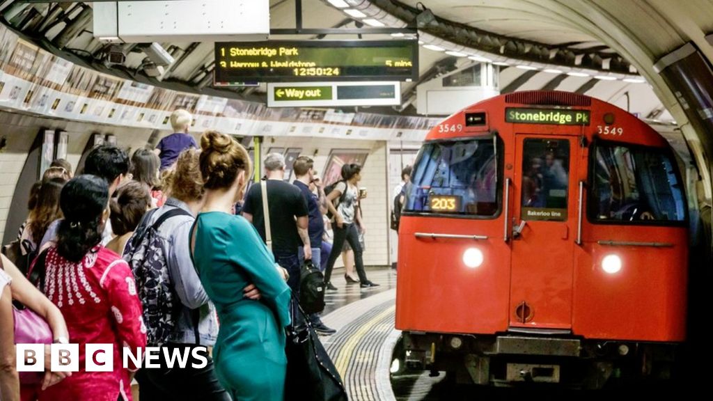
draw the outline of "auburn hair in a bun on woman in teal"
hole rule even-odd
[[[235,139],[218,131],[200,137],[200,173],[206,189],[230,188],[240,171],[250,171],[250,156]]]

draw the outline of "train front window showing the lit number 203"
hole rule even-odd
[[[490,217],[498,212],[497,186],[493,138],[426,143],[404,212]]]

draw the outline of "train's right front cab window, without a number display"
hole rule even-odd
[[[662,150],[598,143],[590,178],[590,219],[683,221],[686,203],[676,168]]]

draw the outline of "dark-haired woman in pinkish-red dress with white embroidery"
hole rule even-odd
[[[108,200],[108,184],[101,178],[78,176],[66,183],[57,245],[49,248],[44,266],[33,267],[44,271],[41,289],[61,310],[81,355],[79,371],[42,392],[40,401],[132,400],[133,373],[123,368],[123,347],[136,355],[138,347],[145,347],[146,328],[129,266],[101,246]],[[111,372],[86,371],[88,343],[113,345]]]

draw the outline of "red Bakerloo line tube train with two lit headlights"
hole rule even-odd
[[[406,365],[481,385],[667,377],[688,215],[670,146],[574,93],[496,96],[433,128],[399,228]]]

